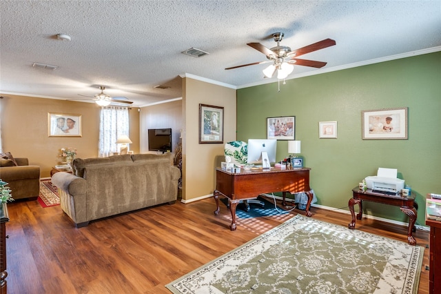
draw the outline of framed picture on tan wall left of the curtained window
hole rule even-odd
[[[82,137],[81,115],[48,112],[48,137]]]

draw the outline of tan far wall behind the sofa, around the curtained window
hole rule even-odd
[[[93,103],[1,95],[1,139],[3,152],[14,157],[28,157],[40,166],[41,177],[50,177],[52,166],[59,163],[59,150],[72,147],[77,157],[98,156],[99,115],[101,108]],[[48,137],[48,112],[81,115],[82,137]],[[139,112],[130,114],[130,150],[139,153]],[[1,177],[1,175],[0,175]]]

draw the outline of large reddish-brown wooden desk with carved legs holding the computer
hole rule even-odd
[[[216,200],[215,215],[219,214],[219,195],[228,198],[230,211],[232,213],[232,224],[229,226],[232,231],[236,230],[236,206],[240,200],[254,199],[258,195],[271,192],[283,192],[283,205],[285,204],[286,193],[306,192],[308,203],[306,215],[310,217],[312,193],[309,188],[310,168],[271,168],[271,170],[245,170],[240,169],[240,173],[229,173],[227,170],[216,168],[216,190],[214,199]]]

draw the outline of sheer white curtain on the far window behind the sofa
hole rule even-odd
[[[101,109],[99,125],[99,157],[107,157],[118,152],[115,143],[121,135],[129,135],[129,109],[107,106]]]

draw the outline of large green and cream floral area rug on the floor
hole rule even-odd
[[[423,254],[421,246],[296,215],[165,286],[186,294],[417,293]]]

